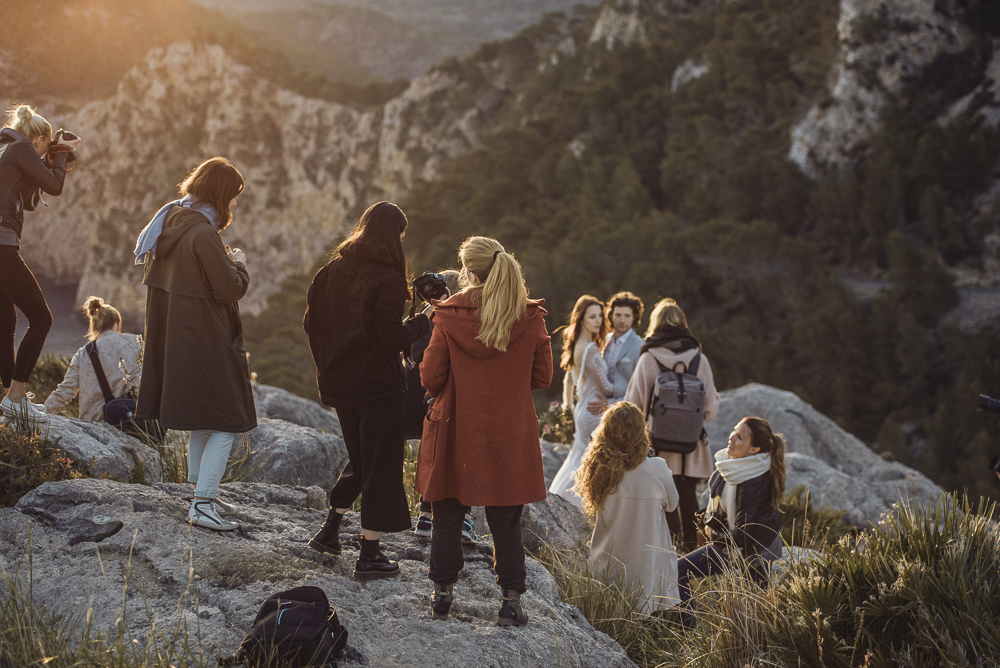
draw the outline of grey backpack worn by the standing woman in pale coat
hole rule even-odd
[[[655,358],[654,358],[655,360]],[[673,369],[660,364],[660,375],[649,390],[646,420],[653,436],[653,450],[689,455],[698,447],[705,422],[705,383],[698,378],[701,351],[690,366],[678,362]],[[680,371],[677,367],[683,367]]]

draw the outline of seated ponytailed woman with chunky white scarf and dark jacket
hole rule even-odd
[[[729,435],[729,445],[715,453],[705,510],[709,544],[677,563],[677,585],[685,606],[684,626],[693,628],[687,609],[693,578],[742,567],[760,587],[767,587],[770,562],[781,557],[781,511],[785,493],[785,437],[767,420],[743,418]]]

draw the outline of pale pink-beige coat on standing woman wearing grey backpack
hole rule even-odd
[[[682,353],[674,353],[666,348],[653,348],[639,356],[639,362],[635,365],[635,373],[625,391],[625,401],[631,401],[642,409],[643,415],[649,409],[649,391],[656,382],[656,377],[660,375],[660,364],[672,369],[678,362],[690,364],[698,351],[694,348],[685,350]],[[656,359],[653,359],[653,358]],[[715,389],[715,379],[712,376],[712,365],[708,363],[708,358],[704,353],[701,355],[701,362],[698,364],[698,378],[705,383],[705,422],[711,422],[719,412],[719,392]],[[708,439],[702,439],[698,447],[690,455],[681,455],[676,452],[662,452],[660,456],[666,460],[670,470],[674,475],[686,475],[690,478],[708,479],[715,470],[715,460],[712,458],[712,451],[708,447]]]

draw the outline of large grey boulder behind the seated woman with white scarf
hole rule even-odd
[[[712,451],[726,447],[744,417],[762,417],[788,441],[786,490],[804,485],[812,502],[847,512],[859,527],[900,500],[925,501],[944,494],[925,475],[879,457],[836,422],[792,392],[752,383],[722,393],[715,420],[705,425]]]

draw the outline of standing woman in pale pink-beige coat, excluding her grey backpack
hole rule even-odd
[[[661,299],[649,318],[646,343],[636,363],[635,373],[625,391],[625,401],[630,401],[646,415],[649,410],[649,395],[660,375],[659,362],[668,369],[682,362],[686,367],[701,352],[701,343],[690,332],[684,311],[673,299]],[[698,378],[705,383],[705,422],[711,422],[719,412],[719,392],[715,389],[712,366],[704,353],[698,364]],[[694,452],[682,455],[676,452],[658,451],[673,472],[674,485],[680,495],[679,514],[671,513],[667,521],[670,530],[680,534],[682,547],[690,552],[697,547],[694,514],[698,511],[695,490],[698,483],[707,480],[715,470],[715,462],[708,447],[708,439],[703,435]]]

